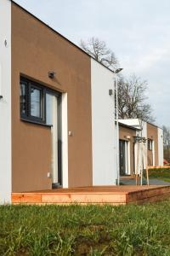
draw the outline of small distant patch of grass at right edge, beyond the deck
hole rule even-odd
[[[149,175],[150,178],[157,178],[170,183],[170,168],[150,169]]]

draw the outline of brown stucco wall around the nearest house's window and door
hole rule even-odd
[[[56,72],[55,79],[48,71]],[[50,189],[50,128],[20,120],[20,74],[68,96],[69,187],[92,185],[90,57],[12,3],[12,190]]]

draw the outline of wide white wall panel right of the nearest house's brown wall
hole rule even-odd
[[[116,184],[114,75],[91,59],[93,185]]]

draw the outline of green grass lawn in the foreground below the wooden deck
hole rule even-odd
[[[1,206],[0,255],[170,255],[170,201]]]

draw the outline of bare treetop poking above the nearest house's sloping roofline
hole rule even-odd
[[[80,46],[105,67],[109,67],[111,70],[116,69],[118,61],[114,52],[107,48],[105,41],[99,40],[99,38],[90,38],[87,42],[81,40]]]

